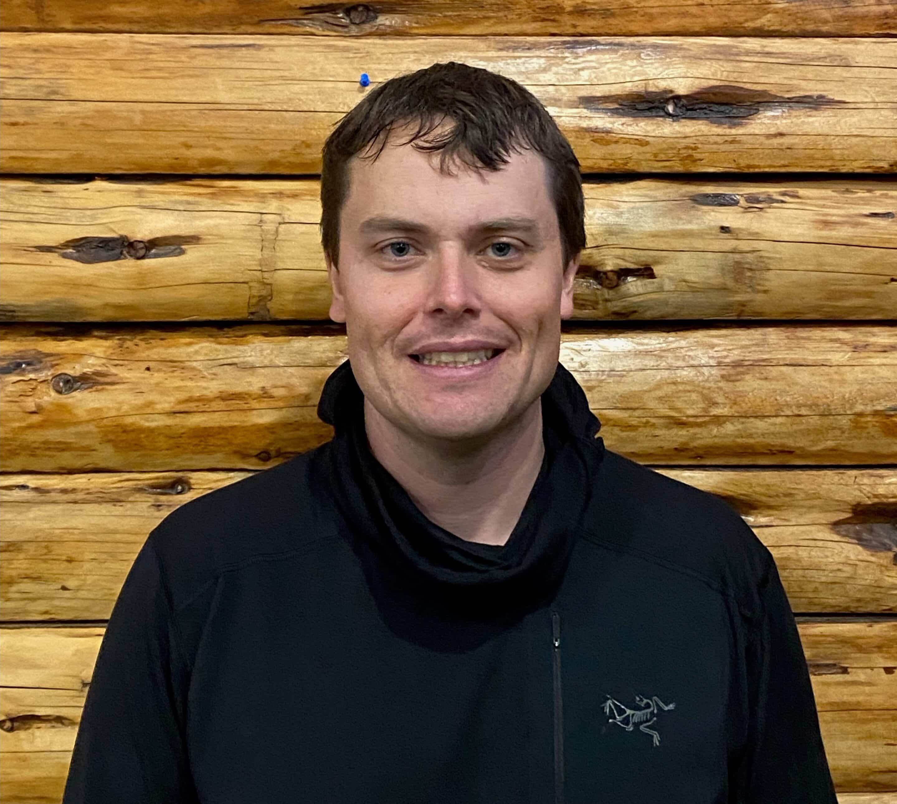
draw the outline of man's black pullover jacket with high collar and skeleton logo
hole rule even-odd
[[[502,547],[431,523],[335,437],[179,507],[135,559],[65,804],[835,804],[770,552],[605,449],[558,365]]]

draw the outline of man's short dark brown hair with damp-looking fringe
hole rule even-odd
[[[324,143],[321,165],[321,245],[330,262],[339,261],[339,220],[349,195],[347,165],[356,154],[376,160],[393,127],[417,123],[403,145],[422,141],[448,118],[454,125],[439,139],[415,144],[419,151],[442,151],[440,171],[457,158],[477,171],[499,170],[511,150],[540,153],[548,163],[554,210],[561,229],[563,267],[586,246],[579,160],[553,117],[518,82],[481,67],[448,62],[380,84],[348,112]],[[379,149],[361,151],[376,143]]]

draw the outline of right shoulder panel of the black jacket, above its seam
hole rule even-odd
[[[690,575],[745,612],[755,608],[774,560],[726,499],[610,450],[602,480],[587,538]]]

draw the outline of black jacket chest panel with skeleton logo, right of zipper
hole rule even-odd
[[[663,572],[598,571],[585,595],[574,569],[555,604],[565,804],[727,801],[727,607]]]

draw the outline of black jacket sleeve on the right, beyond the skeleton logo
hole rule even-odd
[[[747,662],[751,722],[736,800],[837,804],[804,649],[771,559],[760,601]]]

